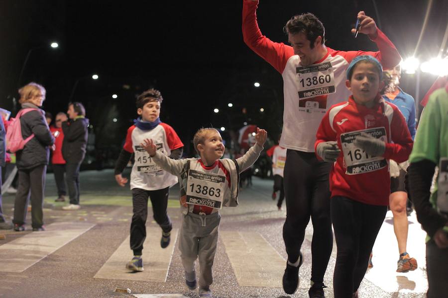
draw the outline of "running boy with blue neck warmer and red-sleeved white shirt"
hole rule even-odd
[[[127,183],[123,178],[126,164],[134,153],[134,164],[130,176],[132,191],[132,222],[130,226],[130,248],[134,257],[126,264],[132,271],[143,271],[141,258],[143,242],[146,238],[146,218],[148,216],[148,197],[151,199],[154,220],[162,228],[160,246],[170,244],[171,220],[166,213],[169,188],[177,183],[177,177],[162,170],[140,146],[147,138],[154,140],[161,154],[180,158],[184,145],[174,129],[160,121],[162,95],[158,90],[149,89],[137,97],[137,114],[139,117],[127,130],[126,141],[115,164],[115,180],[120,186]]]

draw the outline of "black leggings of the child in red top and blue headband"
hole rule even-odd
[[[367,264],[387,212],[387,206],[367,205],[346,197],[331,199],[337,257],[335,298],[351,298],[364,278]]]

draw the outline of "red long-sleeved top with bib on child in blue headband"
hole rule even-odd
[[[341,153],[330,172],[333,196],[344,196],[370,205],[389,205],[389,159],[403,162],[412,150],[412,138],[400,110],[377,97],[373,108],[347,102],[333,105],[319,126],[319,143],[337,141]],[[356,135],[368,133],[386,142],[382,156],[369,156],[352,144]],[[321,159],[318,156],[319,159]]]

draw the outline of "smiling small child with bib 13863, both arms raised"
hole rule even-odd
[[[157,151],[153,140],[141,144],[156,164],[179,177],[183,213],[179,250],[190,290],[196,289],[195,261],[199,257],[199,297],[212,297],[219,209],[238,205],[239,173],[257,160],[266,137],[266,131],[257,128],[256,144],[238,159],[220,159],[225,148],[214,128],[202,128],[194,136],[193,144],[200,158],[174,160]]]

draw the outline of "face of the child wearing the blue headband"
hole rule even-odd
[[[383,88],[378,69],[370,62],[361,61],[354,66],[351,78],[345,81],[348,90],[353,93],[353,100],[360,105],[373,107],[378,92]]]

